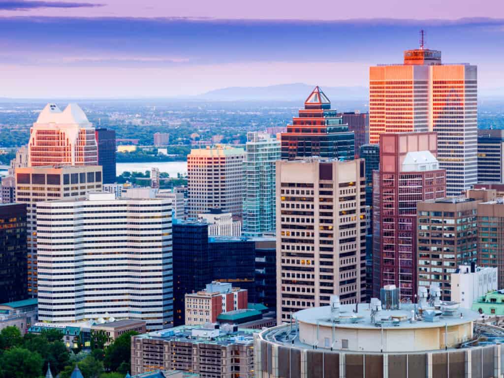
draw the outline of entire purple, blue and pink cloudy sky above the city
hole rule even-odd
[[[401,62],[421,28],[443,61],[478,65],[481,93],[504,95],[504,3],[480,3],[0,0],[0,97],[367,86],[368,67]]]

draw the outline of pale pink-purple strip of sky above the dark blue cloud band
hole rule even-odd
[[[7,6],[2,7],[2,3]],[[0,0],[0,15],[19,13],[23,1]],[[59,0],[68,8],[38,8],[34,3],[25,10],[27,16],[65,17],[203,17],[217,19],[299,19],[299,20],[348,20],[360,18],[396,19],[446,19],[464,17],[504,18],[502,0]],[[88,3],[96,7],[72,7],[75,3]],[[44,5],[44,4],[40,4]],[[47,6],[47,4],[45,4]],[[50,5],[50,4],[49,4]],[[22,5],[21,5],[22,6]]]

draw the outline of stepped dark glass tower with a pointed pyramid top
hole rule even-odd
[[[304,109],[281,136],[283,160],[312,156],[352,160],[355,156],[354,133],[343,123],[343,117],[331,110],[331,101],[319,87],[313,89]]]

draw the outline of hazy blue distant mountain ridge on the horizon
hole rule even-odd
[[[316,85],[279,84],[268,87],[227,87],[203,93],[198,98],[211,101],[304,101]],[[320,88],[331,101],[362,100],[367,102],[367,87]]]

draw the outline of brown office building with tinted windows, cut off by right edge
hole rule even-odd
[[[496,267],[498,284],[504,287],[504,203],[502,199],[481,202],[477,209],[478,252],[480,267]]]

